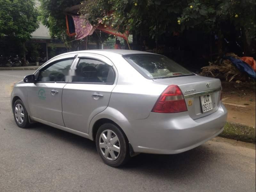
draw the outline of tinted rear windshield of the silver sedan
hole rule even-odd
[[[147,79],[194,75],[175,61],[156,54],[123,55],[132,67]]]

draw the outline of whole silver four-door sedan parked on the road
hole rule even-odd
[[[128,50],[58,55],[15,84],[11,104],[19,127],[40,122],[95,140],[110,166],[195,148],[220,134],[227,118],[219,79]]]

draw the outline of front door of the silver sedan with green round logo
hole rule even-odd
[[[73,60],[74,54],[60,57],[36,72],[36,83],[28,87],[31,116],[65,126],[61,97]]]

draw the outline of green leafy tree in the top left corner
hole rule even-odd
[[[0,38],[8,38],[22,48],[26,60],[25,43],[38,28],[38,12],[33,0],[0,0]]]

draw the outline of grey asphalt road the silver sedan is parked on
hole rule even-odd
[[[42,124],[18,128],[10,92],[32,72],[0,71],[1,192],[255,191],[253,144],[217,137],[182,154],[140,154],[112,168],[93,141]]]

